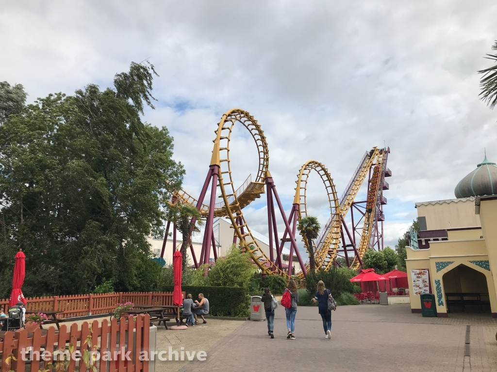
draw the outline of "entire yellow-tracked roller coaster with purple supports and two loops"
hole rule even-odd
[[[255,141],[259,158],[255,179],[252,181],[251,175],[248,176],[244,184],[238,188],[235,188],[233,182],[230,161],[231,134],[236,124],[241,124],[247,128]],[[169,201],[171,206],[178,202],[194,205],[200,211],[201,218],[205,220],[202,250],[198,260],[191,244],[193,228],[190,231],[190,237],[188,237],[195,267],[198,268],[202,264],[209,263],[211,247],[214,259],[217,260],[213,222],[215,217],[226,217],[231,221],[231,227],[234,229],[233,243],[238,243],[250,253],[253,262],[260,268],[262,274],[281,275],[288,279],[292,275],[290,270],[293,267],[295,256],[301,267],[301,271],[296,273],[296,277],[305,278],[309,265],[306,265],[297,248],[296,235],[298,221],[307,215],[307,184],[312,171],[316,171],[321,177],[330,207],[330,218],[316,241],[307,242],[305,236],[302,236],[307,251],[310,252],[311,249],[315,251],[316,270],[329,270],[333,266],[340,266],[338,257],[343,258],[342,264],[344,261],[347,266],[358,269],[362,266],[362,257],[368,249],[376,247],[383,249],[383,221],[385,219],[383,205],[387,203],[386,198],[383,197],[383,190],[389,188],[388,183],[385,182],[385,177],[392,175],[387,168],[389,148],[374,147],[364,154],[340,198],[337,196],[333,179],[327,168],[314,160],[305,163],[297,176],[295,197],[287,218],[269,172],[269,150],[266,137],[257,121],[247,111],[232,109],[222,116],[215,134],[209,170],[198,199],[184,190],[176,190]],[[363,201],[355,201],[366,178],[368,179],[367,198]],[[209,203],[204,204],[209,185],[211,186]],[[218,187],[221,191],[219,198],[222,198],[220,202],[216,202]],[[267,198],[269,252],[264,251],[259,246],[243,214],[243,209],[250,202],[260,198],[264,192]],[[278,237],[276,226],[277,212],[285,225],[281,239]],[[351,229],[345,222],[345,217],[349,212]],[[192,219],[192,227],[194,224],[195,220]],[[161,257],[164,256],[169,227],[170,221],[167,222]],[[174,233],[176,231],[174,226],[173,231]],[[345,236],[348,240],[345,239]],[[358,245],[356,240],[359,241]],[[287,257],[288,265],[284,265],[282,261],[285,243],[290,244],[290,253]]]

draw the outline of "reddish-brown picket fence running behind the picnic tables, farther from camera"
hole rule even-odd
[[[183,293],[184,298],[184,293]],[[173,305],[172,292],[119,292],[98,295],[71,295],[26,298],[26,310],[61,311],[58,318],[107,314],[116,304],[132,302],[135,305]],[[0,300],[0,307],[7,312],[8,299]]]

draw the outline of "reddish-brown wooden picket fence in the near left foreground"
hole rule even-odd
[[[66,325],[61,325],[58,334],[54,327],[49,327],[44,336],[39,328],[32,337],[28,337],[25,329],[5,332],[0,342],[0,370],[38,372],[47,370],[48,364],[52,363],[53,371],[148,372],[149,352],[148,314],[138,315],[135,319],[132,316],[122,317],[119,324],[115,318],[110,325],[107,319],[103,319],[100,327],[98,320],[93,321],[91,328],[87,322],[83,322],[81,328],[73,323],[69,331]],[[102,358],[105,354],[107,358]],[[91,368],[92,355],[95,356],[94,370]],[[57,361],[61,359],[67,361],[66,369],[58,366]],[[90,366],[84,360],[90,361]]]

